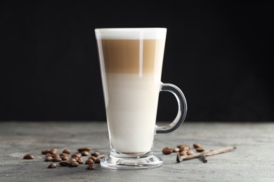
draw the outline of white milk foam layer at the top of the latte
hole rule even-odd
[[[166,28],[95,29],[97,39],[165,39]]]

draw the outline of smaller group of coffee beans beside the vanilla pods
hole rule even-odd
[[[196,152],[201,153],[204,151],[204,148],[198,143],[193,144],[193,148]],[[179,153],[180,155],[194,155],[195,152],[191,151],[191,146],[189,145],[178,145],[175,148],[171,148],[169,146],[166,146],[163,148],[162,153],[165,155],[171,154],[171,153]]]

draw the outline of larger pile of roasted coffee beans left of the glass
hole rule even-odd
[[[57,148],[51,148],[41,151],[41,154],[45,155],[45,162],[51,162],[48,168],[56,168],[56,162],[60,167],[78,167],[81,164],[88,165],[86,169],[95,169],[94,164],[100,164],[100,160],[105,158],[105,155],[100,155],[98,151],[91,152],[91,147],[78,148],[77,152],[72,153],[69,149],[63,150],[58,154]],[[71,155],[70,155],[71,154]],[[86,157],[85,161],[82,157]],[[30,153],[26,154],[23,159],[34,159],[34,156]]]

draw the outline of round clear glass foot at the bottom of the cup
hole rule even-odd
[[[160,167],[162,164],[163,160],[152,153],[143,155],[110,153],[100,162],[101,167],[107,169],[145,169]]]

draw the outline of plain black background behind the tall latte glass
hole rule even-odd
[[[105,120],[98,27],[167,27],[186,120],[273,121],[273,3],[1,3],[0,120]],[[158,120],[176,116],[161,92]]]

